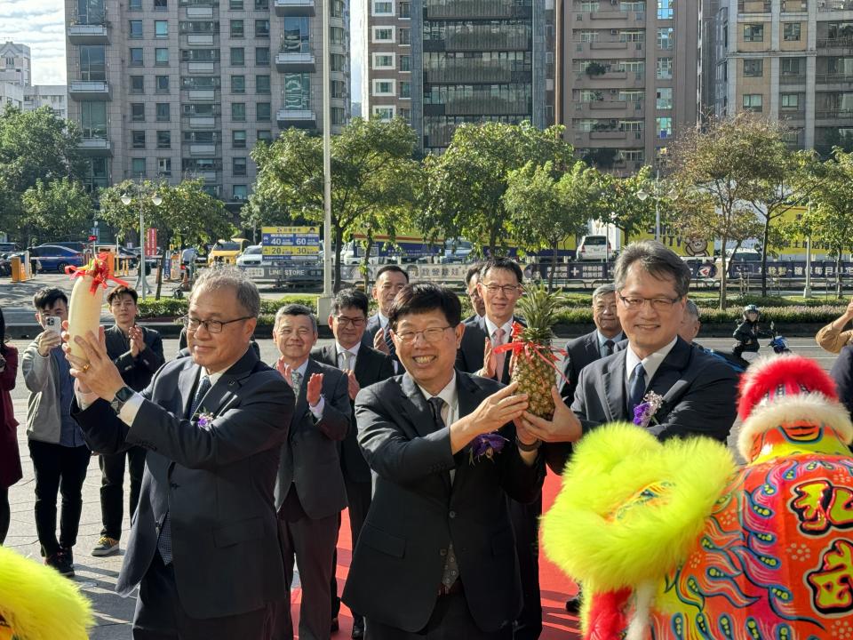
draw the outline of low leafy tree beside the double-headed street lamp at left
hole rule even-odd
[[[141,203],[146,227],[157,229],[157,242],[163,248],[173,243],[203,244],[219,237],[230,237],[236,229],[228,222],[225,204],[206,193],[203,185],[203,180],[185,180],[178,185],[157,184],[150,180],[138,184],[124,180],[100,192],[101,217],[116,227],[120,236],[138,233]],[[152,202],[155,193],[163,199],[159,206]],[[132,197],[131,204],[122,202],[124,194]],[[160,260],[155,292],[157,300],[163,284],[165,251]]]

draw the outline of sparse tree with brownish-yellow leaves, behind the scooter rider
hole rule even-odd
[[[761,233],[751,203],[761,200],[774,176],[765,162],[776,151],[770,126],[738,113],[711,119],[702,130],[686,130],[674,145],[674,223],[689,240],[720,239],[720,308],[726,308],[729,241],[737,251],[746,238]]]

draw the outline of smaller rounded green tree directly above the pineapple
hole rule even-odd
[[[568,236],[583,233],[600,206],[600,175],[578,161],[570,171],[532,162],[509,173],[504,206],[511,217],[513,239],[528,252],[550,249],[548,291],[554,288],[557,253]]]

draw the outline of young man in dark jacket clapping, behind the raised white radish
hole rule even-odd
[[[163,340],[154,329],[136,324],[137,293],[120,284],[107,295],[109,311],[116,324],[104,332],[107,354],[122,374],[124,383],[134,391],[148,386],[154,373],[163,366]],[[131,518],[140,501],[142,473],[145,471],[145,449],[132,446],[126,452],[104,454],[99,458],[100,516],[104,528],[100,540],[92,548],[92,556],[111,556],[118,553],[124,519],[124,460],[131,476],[129,512]]]

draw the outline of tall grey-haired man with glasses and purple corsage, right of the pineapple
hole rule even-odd
[[[663,244],[630,244],[616,261],[614,284],[627,348],[580,372],[571,411],[559,404],[553,420],[526,415],[522,424],[546,442],[574,442],[600,424],[634,421],[634,409],[653,392],[663,404],[642,428],[660,440],[707,436],[725,443],[737,374],[678,335],[690,268]]]

